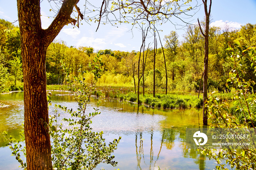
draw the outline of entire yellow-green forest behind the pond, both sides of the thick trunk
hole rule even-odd
[[[22,58],[20,55],[20,32],[19,27],[0,20],[0,92],[23,90]],[[149,39],[149,38],[148,38]],[[209,30],[209,67],[208,67],[208,91],[228,92],[226,80],[229,77],[231,63],[227,59],[226,49],[228,42],[234,39],[240,40],[245,46],[256,45],[256,24],[247,23],[239,30],[230,28],[228,25],[221,29],[210,27]],[[150,39],[149,39],[150,40]],[[147,39],[146,39],[147,41]],[[188,26],[183,35],[176,31],[170,31],[162,39],[163,50],[166,55],[168,92],[184,91],[198,92],[203,74],[204,60],[204,37],[200,33],[199,26]],[[103,74],[97,82],[97,86],[123,86],[130,87],[138,84],[138,59],[142,52],[139,51],[115,51],[102,49],[95,51],[93,47],[68,47],[62,40],[54,40],[46,53],[46,75],[48,85],[67,84],[65,82],[62,62],[66,63],[72,76],[78,76],[79,68],[93,61],[97,54],[102,58]],[[140,86],[148,91],[153,91],[153,64],[154,48],[144,50],[146,56],[144,68],[144,80]],[[164,57],[161,47],[155,54],[156,89],[161,92],[165,89],[166,74]],[[255,80],[253,68],[248,59],[244,59],[241,69],[247,74],[244,80]],[[140,65],[141,70],[143,65]],[[90,73],[87,73],[86,81],[91,81]],[[202,83],[201,88],[202,90]],[[162,90],[163,91],[163,90]]]

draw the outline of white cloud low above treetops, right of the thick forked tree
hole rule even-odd
[[[86,37],[83,36],[82,38],[80,38],[78,40],[78,42],[76,43],[76,46],[83,46],[83,47],[93,47],[94,50],[102,50],[105,49],[105,39],[103,38],[93,38],[93,37]]]

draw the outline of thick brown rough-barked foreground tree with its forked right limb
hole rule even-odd
[[[40,0],[17,0],[24,78],[25,141],[28,170],[52,170],[47,124],[46,49],[64,25],[75,24],[70,17],[79,0],[64,0],[46,29],[41,27]]]

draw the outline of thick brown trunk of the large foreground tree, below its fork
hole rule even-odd
[[[50,136],[47,126],[49,117],[46,96],[46,49],[31,45],[23,46],[22,49],[27,168],[31,170],[52,169]],[[31,64],[39,67],[31,67]]]

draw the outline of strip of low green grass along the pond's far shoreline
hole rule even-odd
[[[69,92],[68,85],[47,85],[47,91]],[[142,104],[151,108],[163,108],[163,109],[188,109],[188,108],[202,108],[203,98],[200,93],[185,92],[185,91],[170,91],[165,95],[165,89],[157,89],[155,97],[149,88],[145,88],[145,95],[140,93],[140,99],[138,102],[138,94],[134,93],[132,86],[96,86],[93,96],[102,98],[111,98],[116,100],[125,100],[134,104]],[[12,91],[22,92],[22,91]],[[12,93],[8,92],[8,93]],[[2,94],[8,94],[2,93]],[[234,92],[219,92],[212,94],[215,98],[218,97],[220,101],[233,101]],[[0,103],[1,105],[1,103]],[[2,104],[4,105],[4,104]],[[7,105],[8,106],[8,105]],[[9,106],[8,106],[9,107]],[[0,107],[2,108],[2,107]]]

